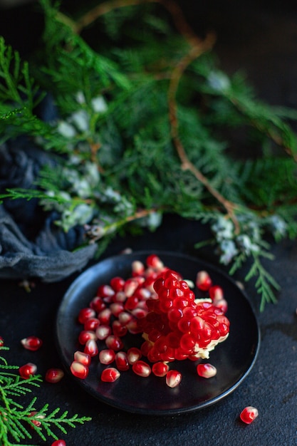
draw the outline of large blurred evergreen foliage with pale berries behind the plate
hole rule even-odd
[[[297,236],[296,111],[222,72],[212,36],[194,36],[174,1],[101,1],[75,18],[40,5],[43,46],[30,66],[0,41],[1,142],[29,135],[57,168],[44,168],[38,190],[2,198],[38,197],[66,231],[85,226],[99,250],[125,224],[153,229],[165,212],[199,219],[231,274],[251,261],[246,280],[256,276],[261,310],[274,302],[278,285],[261,258],[271,256],[268,232]],[[83,30],[94,23],[89,43]],[[45,94],[58,110],[51,123],[34,115]]]

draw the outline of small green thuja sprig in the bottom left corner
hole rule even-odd
[[[0,351],[8,351],[5,346]],[[3,446],[20,445],[22,441],[32,441],[33,436],[46,441],[47,438],[58,440],[56,432],[67,433],[69,427],[83,424],[89,417],[69,416],[68,411],[61,413],[60,408],[50,411],[48,404],[37,409],[38,399],[33,397],[27,405],[19,398],[39,388],[40,375],[31,375],[24,380],[18,373],[19,367],[9,365],[4,356],[0,356],[0,442]],[[31,445],[32,446],[32,445]]]

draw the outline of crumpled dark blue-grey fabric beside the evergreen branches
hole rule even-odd
[[[42,165],[54,157],[34,147],[27,138],[0,145],[0,193],[7,188],[32,187]],[[67,233],[46,213],[37,199],[4,199],[0,205],[0,278],[60,281],[93,258],[95,244],[83,244],[83,227]]]

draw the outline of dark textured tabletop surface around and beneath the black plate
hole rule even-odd
[[[184,2],[187,9],[193,1]],[[217,30],[222,67],[230,72],[244,68],[262,98],[296,107],[296,6],[286,1],[273,6],[266,1],[202,1],[198,6],[197,0],[194,3],[196,15],[192,21]],[[15,10],[14,16],[17,14]],[[3,24],[4,14],[0,21]],[[207,228],[200,224],[167,216],[155,233],[115,239],[105,256],[118,254],[126,247],[197,256],[193,245],[207,236]],[[68,431],[67,445],[297,445],[297,242],[273,245],[272,251],[275,260],[266,261],[266,267],[281,285],[278,304],[266,306],[264,313],[259,313],[259,297],[252,284],[247,286],[246,293],[259,318],[261,349],[251,373],[234,393],[193,413],[132,415],[91,398],[66,374],[60,383],[44,383],[35,393],[40,406],[48,402],[51,408],[61,407],[71,414],[93,418]],[[210,249],[204,249],[200,255],[216,262]],[[61,366],[55,344],[56,311],[76,276],[57,284],[36,281],[31,293],[21,289],[17,281],[1,281],[0,334],[10,348],[7,358],[11,363],[34,362],[43,375],[48,368]],[[236,279],[242,281],[243,277],[244,271]],[[43,339],[40,351],[28,352],[21,347],[21,338],[29,334]],[[239,420],[246,405],[259,410],[259,417],[251,425]],[[44,443],[36,439],[33,444]],[[51,441],[47,444],[51,445]]]

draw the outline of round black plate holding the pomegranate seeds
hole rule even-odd
[[[78,345],[77,316],[80,308],[88,306],[100,284],[107,284],[113,276],[127,278],[131,274],[133,260],[145,261],[151,252],[135,252],[113,256],[100,261],[78,276],[63,297],[56,320],[58,350],[67,370],[73,361]],[[194,281],[197,271],[207,269],[214,284],[222,286],[228,301],[230,321],[229,337],[210,353],[209,361],[217,367],[217,375],[210,379],[199,378],[192,361],[175,361],[174,368],[182,372],[182,382],[169,388],[165,378],[151,374],[141,378],[132,370],[122,372],[115,383],[100,380],[100,365],[93,358],[88,378],[73,377],[90,395],[131,413],[150,415],[172,415],[205,408],[229,395],[249,374],[259,351],[259,326],[249,301],[239,287],[209,264],[183,254],[157,252],[165,265],[179,271],[184,279]],[[173,367],[172,367],[173,368]]]

